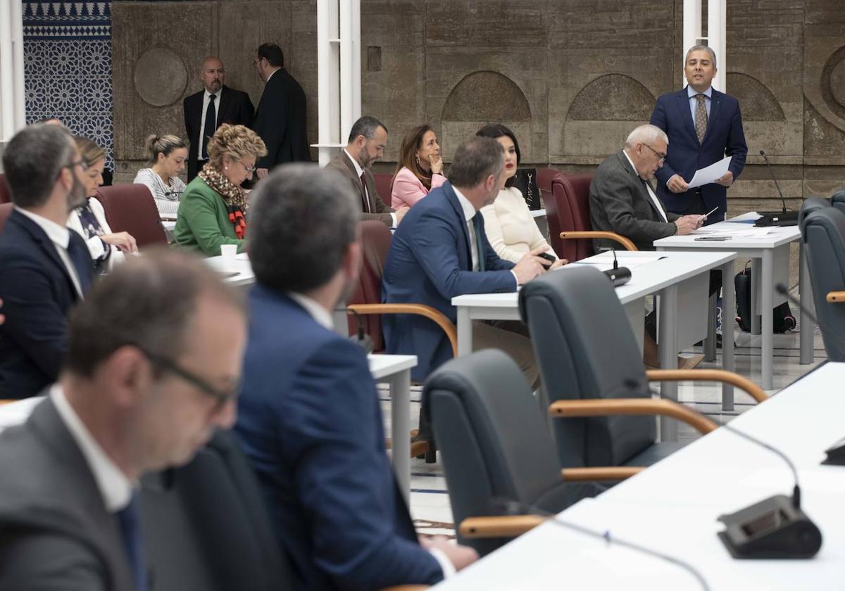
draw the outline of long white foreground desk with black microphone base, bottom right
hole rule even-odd
[[[845,364],[828,363],[732,421],[774,444],[799,471],[802,507],[819,526],[812,560],[733,560],[717,539],[722,513],[792,491],[792,473],[773,453],[717,430],[559,515],[571,523],[689,562],[713,591],[845,589],[845,467],[822,466],[824,450],[845,436]],[[679,567],[608,547],[553,523],[522,535],[438,589],[700,589]]]

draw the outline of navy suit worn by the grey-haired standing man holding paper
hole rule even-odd
[[[695,135],[695,122],[690,113],[690,97],[686,87],[657,99],[657,105],[651,113],[651,125],[660,127],[669,137],[666,162],[655,173],[657,197],[661,198],[669,211],[683,214],[690,207],[691,191],[673,193],[666,187],[666,182],[674,175],[683,176],[684,181],[690,182],[695,171],[725,156],[733,156],[728,170],[733,172],[735,182],[745,166],[748,146],[745,144],[739,101],[717,89],[713,89],[711,95],[710,116],[707,117],[703,143],[699,144],[698,136]],[[714,207],[719,208],[708,218],[708,223],[724,219],[728,207],[727,187],[715,182],[704,185],[701,187],[701,197],[706,210],[699,213],[706,214]]]

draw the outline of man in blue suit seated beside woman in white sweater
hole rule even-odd
[[[516,291],[544,272],[548,262],[537,257],[544,248],[510,263],[493,251],[484,232],[477,211],[493,203],[504,187],[503,171],[504,149],[494,139],[475,137],[455,151],[450,181],[414,205],[396,229],[384,263],[385,302],[432,306],[455,323],[453,297]],[[388,352],[417,355],[416,379],[451,358],[449,339],[428,318],[389,315],[383,322]],[[504,350],[537,387],[537,364],[524,325],[474,322],[472,340],[476,349]]]

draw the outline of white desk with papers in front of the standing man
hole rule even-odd
[[[738,228],[738,227],[752,227],[749,224],[739,224],[740,220],[755,220],[760,217],[754,212],[750,214],[740,215],[731,220],[719,222],[718,224],[708,225],[702,230],[719,230],[723,228]],[[760,310],[764,311],[762,316],[762,336],[760,355],[762,357],[762,383],[764,390],[771,390],[772,386],[772,358],[773,358],[773,343],[772,339],[772,315],[771,310],[775,305],[775,275],[777,261],[779,265],[786,264],[788,268],[789,262],[789,243],[798,240],[800,243],[801,230],[797,225],[785,226],[782,228],[771,228],[766,236],[755,238],[732,237],[728,241],[711,242],[711,241],[695,241],[698,237],[696,234],[689,236],[669,236],[661,240],[654,241],[654,246],[658,251],[710,251],[710,252],[726,252],[733,251],[737,253],[739,258],[751,258],[752,263],[752,285],[751,293],[756,294],[756,285],[760,285],[760,306],[757,306],[757,299],[755,296],[751,298],[751,332],[760,333],[760,326],[757,322],[757,315]],[[784,263],[785,262],[785,263]],[[799,253],[799,292],[801,302],[810,302],[812,297],[805,297],[810,295],[810,281],[807,271],[807,265],[804,262],[804,247],[801,247]],[[759,282],[759,284],[758,284]],[[730,284],[733,287],[733,269],[728,274],[722,274],[722,289]],[[782,296],[778,296],[782,300]],[[722,305],[728,299],[727,295],[722,295]],[[804,304],[806,307],[806,304]],[[722,346],[728,341],[728,337],[733,333],[732,330],[726,330],[725,320],[729,321],[728,328],[732,328],[731,318],[722,311]],[[799,336],[799,362],[802,364],[812,363],[813,361],[813,324],[810,317],[804,312],[800,312],[801,333]]]

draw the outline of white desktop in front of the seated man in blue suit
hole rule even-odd
[[[619,266],[625,266],[625,260],[656,259],[652,263],[645,263],[631,270],[631,280],[616,288],[619,301],[627,304],[668,285],[679,283],[696,274],[711,268],[717,268],[735,258],[733,252],[628,252],[616,253]],[[612,252],[602,252],[590,258],[581,259],[552,271],[552,273],[566,273],[568,268],[575,268],[584,264],[598,263],[608,268],[613,263]],[[517,305],[517,294],[467,294],[452,298],[452,306],[474,307],[514,307]]]

